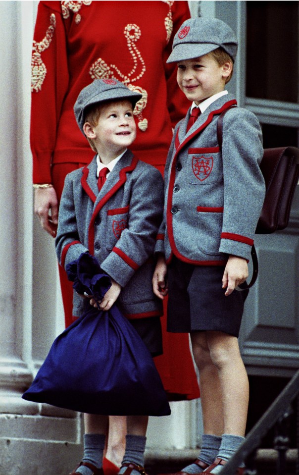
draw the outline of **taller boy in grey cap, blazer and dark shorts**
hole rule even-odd
[[[199,369],[204,434],[199,458],[183,474],[218,474],[244,440],[249,384],[238,334],[248,291],[248,260],[265,186],[256,117],[225,91],[237,40],[218,19],[183,23],[168,62],[192,102],[177,124],[165,167],[164,219],[153,289],[167,291],[167,329],[190,332]],[[223,121],[223,144],[217,119]],[[240,467],[237,474],[241,475]]]

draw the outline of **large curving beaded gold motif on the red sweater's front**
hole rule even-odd
[[[91,66],[89,73],[92,79],[118,79],[131,91],[142,94],[142,98],[135,106],[134,115],[139,119],[138,127],[145,132],[148,128],[148,119],[143,117],[142,112],[148,103],[148,93],[145,89],[133,84],[138,81],[146,71],[144,59],[136,47],[136,43],[141,36],[141,29],[134,23],[129,23],[124,29],[124,35],[127,40],[128,50],[133,58],[132,70],[127,74],[123,74],[115,64],[108,65],[102,58],[99,58]]]

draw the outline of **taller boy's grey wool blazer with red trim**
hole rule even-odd
[[[222,96],[187,133],[190,111],[175,128],[155,247],[168,263],[172,255],[196,265],[224,265],[228,255],[249,260],[265,195],[259,168],[263,148],[255,115],[235,107],[224,117],[220,153],[217,119],[236,104],[232,95]]]

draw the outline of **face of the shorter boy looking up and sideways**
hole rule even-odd
[[[128,100],[109,102],[100,107],[98,124],[84,124],[85,134],[93,143],[105,163],[121,155],[136,138],[133,106]],[[108,161],[107,161],[108,160]]]

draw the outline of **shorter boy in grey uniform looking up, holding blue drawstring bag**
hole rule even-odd
[[[114,302],[142,337],[152,356],[162,354],[162,305],[154,296],[151,256],[163,211],[163,179],[128,147],[136,137],[133,109],[141,95],[114,79],[84,88],[74,106],[76,120],[96,155],[69,173],[59,208],[55,240],[59,263],[66,266],[90,252],[111,277],[100,302]],[[96,302],[74,293],[73,315]],[[120,474],[144,474],[147,416],[127,418],[126,450]],[[84,457],[74,473],[103,475],[107,417],[85,415]]]

